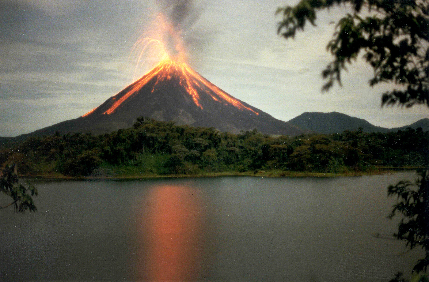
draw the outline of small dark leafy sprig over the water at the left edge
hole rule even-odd
[[[15,212],[24,213],[26,210],[35,212],[37,210],[31,196],[37,196],[37,189],[28,184],[28,187],[18,184],[18,176],[14,172],[15,165],[6,166],[2,171],[0,180],[0,192],[12,198],[12,202],[0,209],[14,206]]]

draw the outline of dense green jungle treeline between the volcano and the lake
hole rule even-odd
[[[269,136],[255,129],[236,135],[139,117],[133,128],[104,135],[31,137],[1,150],[0,163],[15,163],[21,175],[75,177],[103,167],[134,175],[260,170],[347,173],[426,166],[428,156],[429,132],[421,128],[296,137]]]

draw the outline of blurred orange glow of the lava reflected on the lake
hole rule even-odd
[[[196,281],[201,277],[203,209],[199,191],[161,186],[149,195],[137,232],[139,281]]]

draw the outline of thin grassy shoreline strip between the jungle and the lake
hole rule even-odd
[[[203,178],[203,177],[352,177],[364,175],[394,174],[400,171],[413,171],[417,167],[410,168],[379,168],[377,171],[351,171],[343,173],[330,172],[305,172],[305,171],[245,171],[245,172],[205,172],[201,174],[123,174],[123,175],[94,175],[87,177],[72,177],[63,174],[34,174],[18,175],[21,179],[46,179],[46,180],[133,180],[133,179],[169,179],[169,178]]]

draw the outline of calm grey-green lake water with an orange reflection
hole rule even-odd
[[[414,178],[31,180],[37,212],[0,211],[0,280],[387,282],[422,256],[372,236]]]

